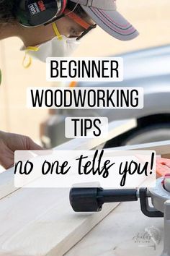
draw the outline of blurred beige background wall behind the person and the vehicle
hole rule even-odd
[[[110,56],[170,43],[169,0],[117,0],[117,7],[138,29],[140,36],[122,42],[97,27],[82,40],[75,56]],[[0,129],[28,135],[39,142],[40,124],[48,118],[49,111],[27,109],[26,89],[58,84],[45,82],[45,64],[39,61],[33,61],[32,67],[24,69],[24,53],[19,51],[21,47],[22,42],[18,38],[0,42]]]

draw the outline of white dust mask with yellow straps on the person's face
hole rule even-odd
[[[30,67],[32,58],[45,62],[48,57],[65,57],[73,54],[73,51],[79,46],[79,41],[76,40],[76,38],[67,38],[65,35],[61,35],[55,22],[53,22],[53,30],[56,35],[55,38],[48,40],[39,46],[22,47],[21,50],[25,51],[23,60],[24,67]],[[29,61],[25,64],[27,55],[29,56]]]

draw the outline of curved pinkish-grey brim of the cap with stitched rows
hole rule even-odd
[[[132,40],[139,33],[122,15],[116,10],[102,10],[94,7],[81,5],[92,20],[103,30],[119,40]]]

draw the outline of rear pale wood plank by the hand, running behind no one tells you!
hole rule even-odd
[[[123,132],[127,132],[129,129],[133,129],[135,126],[135,119],[112,121],[109,124],[109,132],[106,138],[78,138],[70,140],[57,148],[54,148],[54,150],[91,150],[107,140],[110,140],[112,137],[116,137]],[[17,188],[14,187],[14,168],[10,168],[9,170],[0,174],[0,200],[16,190]]]

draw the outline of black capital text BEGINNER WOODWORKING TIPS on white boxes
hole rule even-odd
[[[141,109],[143,88],[115,87],[114,82],[123,80],[122,58],[48,58],[48,81],[76,81],[76,87],[27,88],[27,108],[56,109]],[[89,82],[82,87],[79,82]],[[94,86],[100,82],[112,82],[110,87]],[[89,84],[88,84],[89,85]],[[107,137],[107,116],[68,116],[65,120],[66,138]]]

